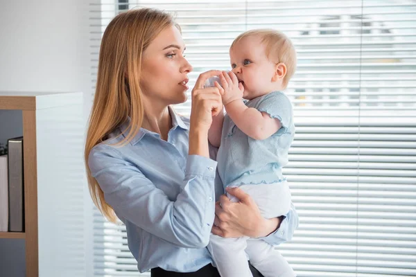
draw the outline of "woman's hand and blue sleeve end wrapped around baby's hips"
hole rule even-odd
[[[216,217],[212,233],[225,238],[248,236],[263,238],[270,244],[291,240],[299,224],[299,217],[293,204],[284,217],[266,220],[250,195],[240,188],[227,188],[227,193],[240,199],[231,202],[222,195],[216,204]]]

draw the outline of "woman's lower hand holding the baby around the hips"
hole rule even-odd
[[[212,233],[223,238],[266,237],[279,228],[281,217],[266,220],[261,216],[259,207],[252,197],[240,188],[227,188],[227,193],[234,195],[239,202],[231,202],[221,195],[216,203],[215,220]]]

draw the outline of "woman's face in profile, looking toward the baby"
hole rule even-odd
[[[192,66],[184,57],[184,41],[175,26],[162,30],[143,53],[140,84],[150,102],[162,105],[187,100],[188,73]]]

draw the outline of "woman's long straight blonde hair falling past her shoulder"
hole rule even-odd
[[[141,57],[150,42],[168,26],[176,26],[172,15],[153,8],[122,12],[108,24],[101,41],[94,104],[89,117],[84,159],[92,200],[101,213],[116,222],[113,208],[88,167],[89,152],[107,139],[130,117],[128,134],[117,145],[130,142],[139,132],[144,110],[139,84]]]

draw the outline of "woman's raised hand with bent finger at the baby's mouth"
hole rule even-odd
[[[204,89],[205,81],[221,71],[211,70],[199,75],[195,87],[192,89],[191,129],[204,129],[208,132],[212,123],[212,116],[216,116],[223,109],[220,92],[217,87]]]

